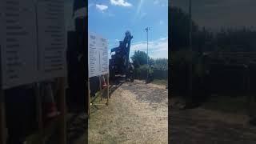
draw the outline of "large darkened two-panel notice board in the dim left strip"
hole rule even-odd
[[[66,76],[64,0],[1,0],[2,89]]]

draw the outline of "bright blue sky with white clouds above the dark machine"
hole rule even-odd
[[[168,0],[89,0],[88,22],[90,32],[108,39],[109,51],[130,30],[130,56],[146,51],[149,26],[150,58],[168,58]]]

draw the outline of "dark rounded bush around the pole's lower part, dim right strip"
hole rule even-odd
[[[192,55],[192,58],[191,58]],[[191,61],[192,59],[192,61]],[[189,50],[181,50],[171,54],[170,79],[173,94],[188,95],[190,82],[190,64],[192,63],[193,90],[200,91],[201,79],[205,77],[206,66],[202,57],[197,53],[190,54]],[[200,86],[199,86],[200,85]],[[195,94],[195,92],[194,92]]]

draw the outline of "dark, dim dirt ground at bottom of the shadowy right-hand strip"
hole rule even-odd
[[[179,110],[170,100],[170,143],[172,144],[254,144],[256,126],[249,125],[247,114],[222,113],[202,107]]]

